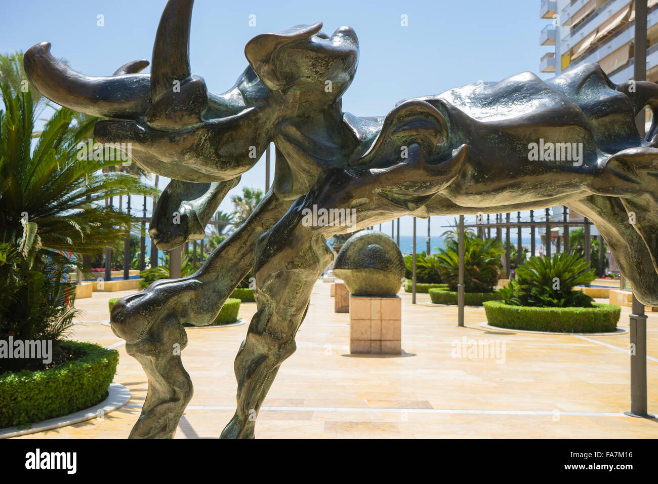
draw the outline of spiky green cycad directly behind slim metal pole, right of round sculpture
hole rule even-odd
[[[505,252],[495,238],[482,240],[468,235],[464,238],[464,284],[466,292],[492,292],[500,278],[500,256]],[[443,282],[457,291],[459,282],[459,241],[445,241],[439,250],[438,267]]]

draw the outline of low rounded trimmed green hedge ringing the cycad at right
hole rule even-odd
[[[593,308],[534,308],[500,301],[484,303],[492,326],[553,333],[609,333],[617,329],[621,308],[594,304]]]

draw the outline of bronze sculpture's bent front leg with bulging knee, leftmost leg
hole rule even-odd
[[[174,436],[193,391],[180,359],[188,341],[182,324],[203,326],[215,320],[226,298],[249,273],[257,238],[287,206],[288,202],[268,194],[247,222],[216,248],[195,274],[174,281],[155,281],[146,290],[114,304],[112,330],[126,340],[126,351],[141,363],[149,382],[131,438]]]

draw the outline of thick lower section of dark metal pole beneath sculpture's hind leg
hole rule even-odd
[[[633,294],[630,315],[630,412],[631,417],[653,418],[647,414],[647,316],[644,304]]]

